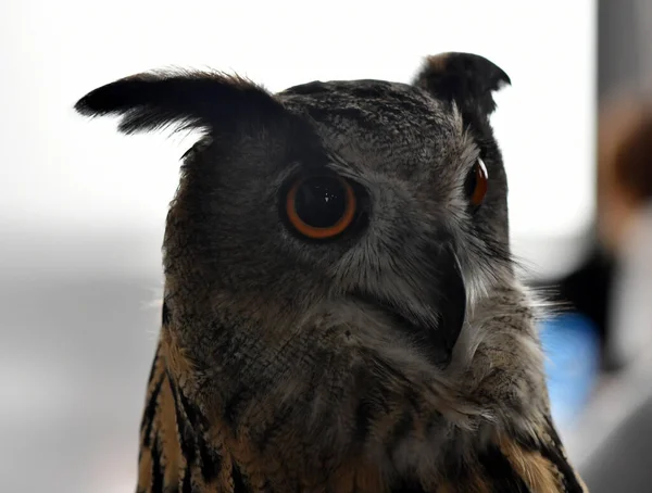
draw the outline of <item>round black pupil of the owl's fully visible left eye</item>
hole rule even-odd
[[[330,228],[347,211],[347,190],[337,178],[309,178],[297,190],[294,210],[306,225]]]

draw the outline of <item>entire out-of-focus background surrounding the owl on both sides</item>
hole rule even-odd
[[[513,81],[492,122],[514,251],[568,306],[542,324],[568,453],[592,492],[649,492],[652,213],[637,186],[652,150],[631,136],[651,41],[649,0],[2,2],[2,491],[134,491],[160,244],[192,139],[120,136],[114,121],[76,116],[76,99],[170,65],[271,90],[409,81],[424,55],[471,51]]]

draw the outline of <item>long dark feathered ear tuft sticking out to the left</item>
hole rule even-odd
[[[137,74],[99,87],[75,104],[85,116],[120,115],[123,134],[177,129],[233,129],[237,122],[277,116],[283,106],[238,76],[165,71]]]

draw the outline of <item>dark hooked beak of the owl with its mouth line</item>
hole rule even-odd
[[[399,330],[425,350],[432,364],[444,368],[464,325],[466,289],[460,263],[450,248],[437,254],[436,264],[434,289],[425,296],[430,316],[419,316],[400,303],[374,294],[356,292],[354,296],[385,312]]]

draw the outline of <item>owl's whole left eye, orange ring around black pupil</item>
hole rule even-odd
[[[342,233],[355,217],[353,188],[339,176],[299,178],[286,197],[286,213],[301,235],[326,240]]]

